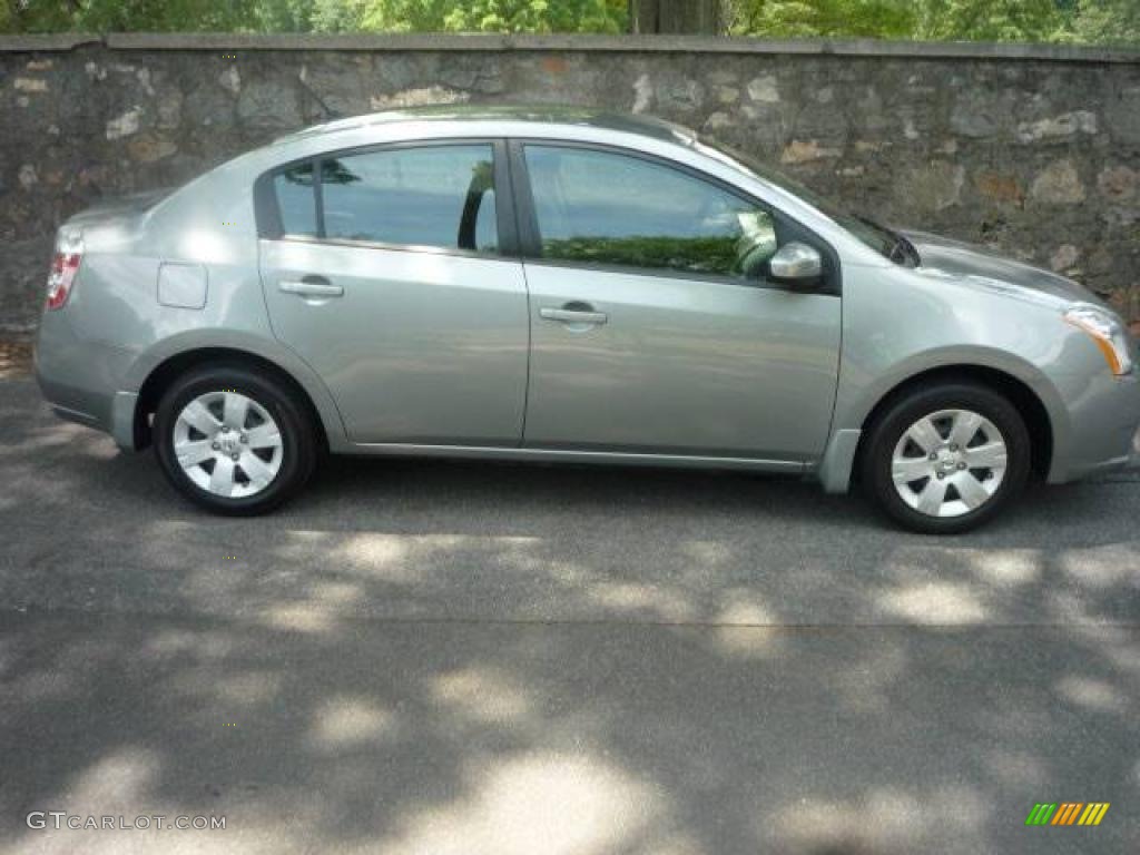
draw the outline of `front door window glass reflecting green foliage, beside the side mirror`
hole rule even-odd
[[[777,249],[769,211],[679,170],[586,148],[524,152],[543,258],[760,278]]]

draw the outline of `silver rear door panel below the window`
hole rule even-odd
[[[282,290],[319,271],[327,299]],[[325,378],[353,442],[516,446],[527,400],[522,264],[266,241],[277,339]]]

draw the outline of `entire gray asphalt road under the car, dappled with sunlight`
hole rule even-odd
[[[0,484],[5,855],[1140,840],[1137,475],[931,539],[796,481],[339,461],[231,521],[16,378]]]

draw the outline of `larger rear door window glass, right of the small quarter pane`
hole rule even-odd
[[[494,162],[487,144],[326,158],[320,168],[325,236],[494,252]]]

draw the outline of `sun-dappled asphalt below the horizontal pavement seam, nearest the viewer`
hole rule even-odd
[[[1135,839],[1134,632],[2,622],[6,853],[1124,853]],[[1115,805],[1101,828],[1024,826],[1035,801],[1092,799]],[[21,828],[36,809],[228,825],[168,848],[158,832]]]

